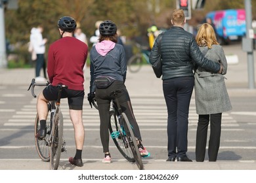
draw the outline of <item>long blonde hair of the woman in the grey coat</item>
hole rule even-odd
[[[198,46],[208,46],[208,48],[211,48],[213,44],[219,44],[213,27],[208,23],[202,24],[199,27],[198,34],[196,35],[196,42],[198,43]]]

